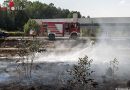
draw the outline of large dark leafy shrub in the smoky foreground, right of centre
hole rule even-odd
[[[94,72],[91,70],[92,61],[87,56],[79,58],[78,64],[68,71],[71,75],[68,82],[72,87],[77,88],[77,90],[85,90],[91,86],[96,87],[97,83],[92,79],[92,73]]]

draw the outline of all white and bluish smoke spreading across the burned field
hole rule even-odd
[[[93,59],[92,70],[95,72],[92,76],[99,83],[103,81],[102,77],[110,79],[107,74],[110,73],[110,62],[114,59],[119,62],[118,70],[114,73],[115,79],[126,82],[130,79],[130,38],[128,37],[130,31],[126,30],[126,27],[117,28],[116,25],[113,28],[101,25],[100,28],[102,29],[100,36],[95,39],[56,40],[52,48],[36,53],[30,81],[25,77],[26,72],[23,66],[19,66],[18,70],[15,61],[1,61],[0,82],[21,80],[21,85],[31,84],[32,81],[37,81],[42,85],[64,85],[69,78],[66,71],[84,56]],[[36,85],[36,82],[33,84]]]

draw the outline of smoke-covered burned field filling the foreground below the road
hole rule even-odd
[[[16,48],[21,49],[17,47],[17,44],[20,44],[19,41],[13,41],[16,47],[8,42],[6,42],[7,46],[3,47],[5,44],[3,42],[1,48],[15,48],[17,52],[14,50],[11,56],[8,56],[11,54],[9,51],[0,53],[3,56],[7,54],[6,58],[1,58],[0,61],[0,90],[115,90],[117,88],[120,90],[127,88],[130,79],[128,41],[129,39],[110,39],[96,41],[94,44],[94,41],[89,39],[43,40],[38,46],[41,51],[38,51],[37,46],[23,48],[31,54],[21,53],[23,56],[19,56],[20,58],[16,55],[19,52]],[[122,44],[119,44],[120,42]],[[33,45],[32,42],[30,43]],[[28,45],[32,46],[31,44]],[[42,51],[43,48],[44,51]],[[87,56],[86,59],[84,59],[85,56]]]

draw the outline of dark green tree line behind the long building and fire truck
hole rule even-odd
[[[74,12],[78,13],[79,18],[81,17],[80,12],[57,8],[53,3],[27,0],[14,0],[14,3],[14,11],[0,10],[0,28],[3,30],[23,31],[23,26],[29,19],[72,18]]]

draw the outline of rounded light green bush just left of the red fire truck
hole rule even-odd
[[[24,32],[25,34],[29,34],[30,30],[35,30],[38,32],[39,30],[39,25],[35,20],[29,19],[28,22],[24,25]]]

